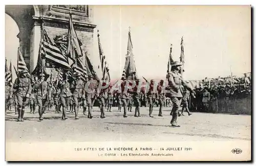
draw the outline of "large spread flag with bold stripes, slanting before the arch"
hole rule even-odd
[[[60,68],[71,69],[68,60],[65,56],[63,56],[60,49],[54,43],[52,39],[47,35],[45,29],[42,30],[43,33],[43,41],[41,43],[41,54],[42,58],[46,59],[46,62],[53,64]]]

